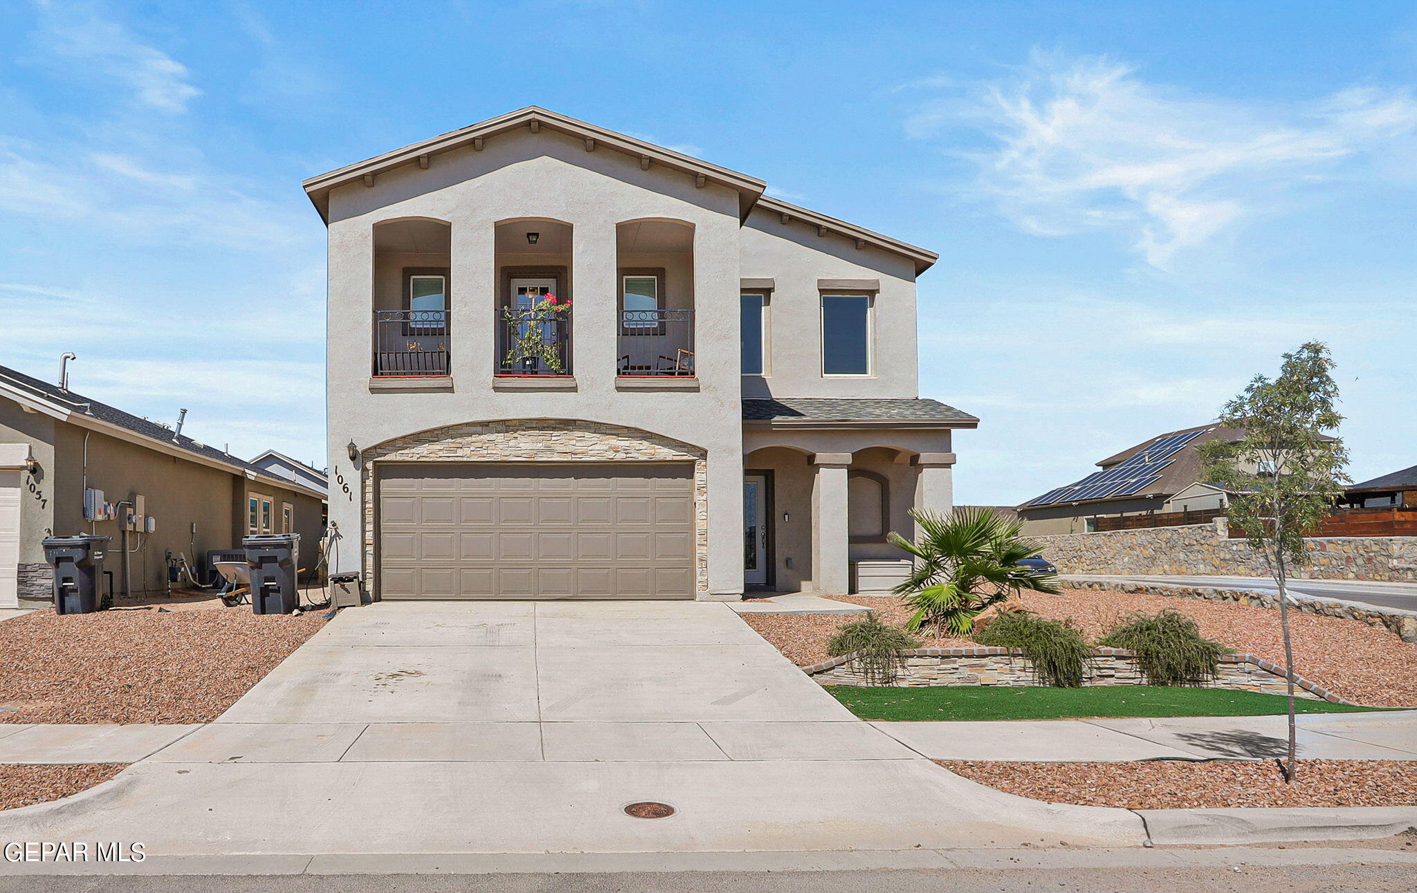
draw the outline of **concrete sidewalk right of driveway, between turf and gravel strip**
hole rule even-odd
[[[1311,713],[1295,721],[1308,760],[1417,760],[1417,710]],[[1271,760],[1288,750],[1284,716],[871,724],[931,760]]]

